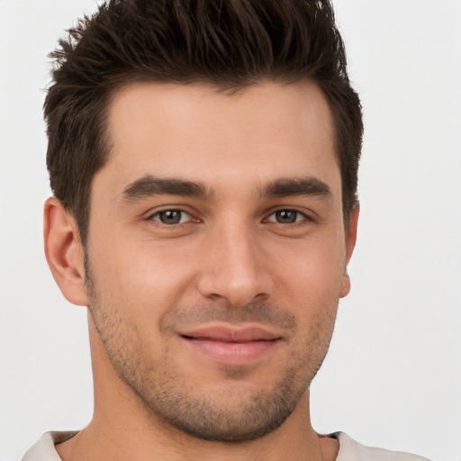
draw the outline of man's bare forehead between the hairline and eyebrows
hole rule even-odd
[[[330,107],[309,82],[232,95],[203,85],[132,84],[113,95],[108,131],[112,149],[101,173],[121,187],[147,174],[214,188],[276,176],[340,182]]]

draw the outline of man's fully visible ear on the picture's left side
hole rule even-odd
[[[45,256],[59,289],[70,303],[87,305],[85,252],[77,222],[56,197],[45,202],[43,226]]]

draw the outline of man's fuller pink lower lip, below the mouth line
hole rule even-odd
[[[249,342],[223,342],[210,339],[184,338],[187,343],[205,356],[229,365],[246,365],[273,351],[280,339],[249,341]]]

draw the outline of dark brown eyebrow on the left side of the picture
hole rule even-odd
[[[156,176],[142,176],[133,181],[122,192],[123,202],[136,202],[137,200],[154,195],[185,195],[203,199],[212,198],[212,191],[201,183],[185,181],[180,178],[162,178]]]

